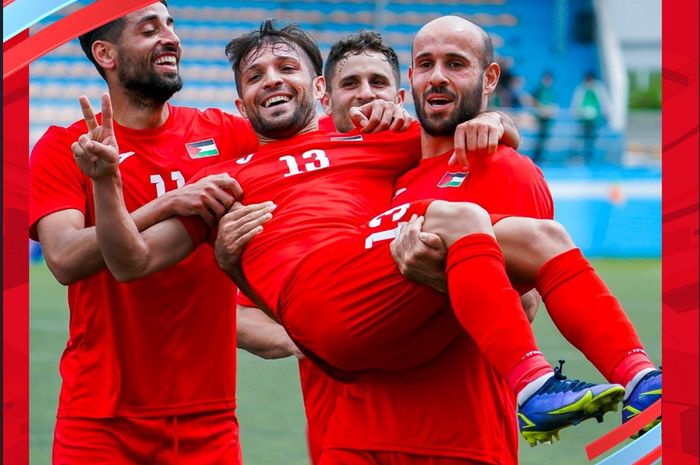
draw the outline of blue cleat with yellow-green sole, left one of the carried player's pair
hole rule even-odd
[[[561,365],[564,364],[560,360]],[[554,375],[518,408],[520,434],[530,446],[559,439],[559,431],[589,418],[603,421],[603,415],[616,411],[625,395],[619,384],[591,384],[567,379],[561,365]]]

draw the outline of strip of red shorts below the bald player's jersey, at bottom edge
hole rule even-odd
[[[404,452],[327,449],[318,465],[493,465],[459,457],[437,457]]]

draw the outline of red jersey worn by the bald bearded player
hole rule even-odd
[[[475,202],[489,213],[552,217],[547,184],[528,158],[501,146],[462,171],[447,166],[450,155],[421,160],[402,176],[394,205],[433,198]],[[517,464],[515,398],[463,334],[423,366],[368,372],[347,384],[336,398],[326,447]]]

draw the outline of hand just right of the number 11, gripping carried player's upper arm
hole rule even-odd
[[[168,191],[159,200],[167,202],[168,210],[173,215],[200,216],[207,225],[214,228],[242,195],[243,190],[238,181],[227,173],[220,173]]]

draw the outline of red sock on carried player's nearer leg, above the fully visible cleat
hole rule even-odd
[[[537,348],[493,237],[470,234],[452,244],[447,284],[460,323],[516,394],[545,368],[552,371]]]

